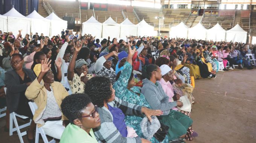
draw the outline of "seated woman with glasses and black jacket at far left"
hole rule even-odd
[[[35,80],[36,76],[32,70],[23,68],[23,63],[24,60],[22,55],[18,53],[13,54],[11,58],[13,70],[6,71],[5,73],[7,108],[10,113],[15,112],[32,119],[33,114],[28,104],[31,100],[26,98],[25,91],[32,81]],[[35,127],[35,122],[32,121],[30,128],[27,131],[29,142],[34,138],[33,134]]]

